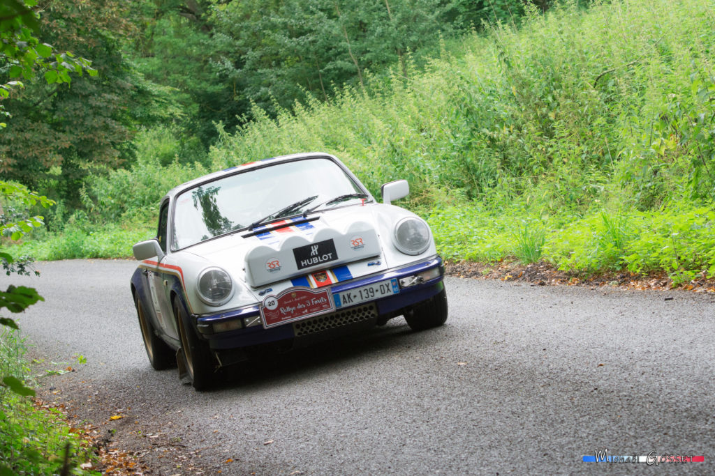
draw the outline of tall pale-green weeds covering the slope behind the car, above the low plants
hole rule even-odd
[[[617,2],[588,14],[563,7],[527,19],[521,31],[495,27],[487,39],[470,39],[463,58],[445,54],[406,83],[393,77],[370,95],[348,88],[275,119],[254,108],[252,123],[220,136],[212,167],[317,149],[345,158],[373,191],[407,178],[420,203],[445,191],[492,206],[519,196],[554,213],[583,211],[622,191],[633,206],[657,207],[685,184],[679,161],[657,161],[657,173],[651,167],[646,141],[660,116],[652,99],[706,73],[706,64],[691,61],[710,47],[690,41],[710,31],[701,3],[670,11]],[[619,15],[625,37],[610,33]]]

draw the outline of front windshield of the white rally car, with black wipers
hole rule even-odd
[[[172,249],[179,250],[257,222],[300,215],[317,203],[364,193],[327,158],[278,163],[189,188],[176,198]],[[332,206],[360,202],[337,201]],[[326,205],[330,208],[331,205]]]

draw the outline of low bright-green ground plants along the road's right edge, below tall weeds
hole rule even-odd
[[[533,212],[494,216],[478,206],[438,208],[428,216],[440,253],[449,260],[524,263],[543,259],[561,270],[597,273],[665,271],[674,283],[715,276],[715,211],[671,203],[658,211],[594,211],[543,217],[539,228],[515,226]],[[541,254],[538,253],[540,250]]]

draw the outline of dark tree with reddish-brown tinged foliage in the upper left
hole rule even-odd
[[[141,18],[131,3],[49,0],[39,14],[36,36],[57,51],[50,58],[77,63],[77,56],[65,52],[72,51],[94,62],[89,70],[75,68],[71,85],[69,70],[55,73],[56,61],[35,64],[36,71],[44,71],[39,76],[25,70],[25,87],[13,91],[6,105],[13,121],[0,136],[0,172],[72,208],[79,206],[79,190],[90,172],[132,161],[137,127],[170,120],[176,108],[166,107],[171,93],[146,81],[124,54]],[[88,78],[83,71],[99,74]]]

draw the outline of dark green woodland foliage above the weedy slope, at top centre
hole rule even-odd
[[[407,76],[413,54],[454,30],[453,10],[445,0],[144,1],[137,64],[181,91],[182,127],[208,146],[213,123],[232,129],[254,105],[275,114],[327,100],[395,64]]]

